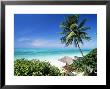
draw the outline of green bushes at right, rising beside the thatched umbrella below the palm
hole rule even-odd
[[[93,49],[82,59],[75,60],[70,67],[73,71],[84,72],[85,75],[97,71],[97,49]]]

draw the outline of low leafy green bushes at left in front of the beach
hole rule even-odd
[[[17,59],[14,61],[15,76],[60,76],[60,70],[49,62]]]

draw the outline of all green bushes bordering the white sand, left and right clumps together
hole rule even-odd
[[[71,65],[71,72],[84,72],[85,76],[97,70],[97,49],[90,51],[85,58],[75,60]],[[39,60],[17,59],[14,61],[15,76],[70,76],[61,72],[58,67],[51,65],[49,62]]]

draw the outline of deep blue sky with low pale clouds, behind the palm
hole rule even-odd
[[[14,46],[15,48],[62,48],[60,24],[68,14],[15,14]],[[84,41],[82,48],[97,47],[97,15],[81,14],[80,21],[87,18],[86,26],[91,40]],[[71,45],[70,48],[75,48]]]

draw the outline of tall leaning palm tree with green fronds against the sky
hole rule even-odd
[[[84,57],[80,44],[83,44],[84,40],[90,40],[90,37],[86,32],[86,30],[90,29],[90,27],[85,26],[85,22],[87,21],[86,18],[79,22],[79,17],[80,15],[70,15],[65,18],[64,22],[61,23],[61,42],[66,46],[74,43],[75,47],[79,48],[82,56]]]

